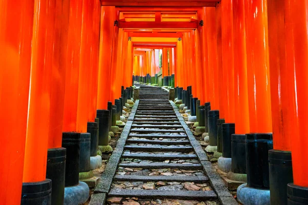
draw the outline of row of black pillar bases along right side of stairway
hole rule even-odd
[[[196,116],[198,98],[192,96],[191,86],[175,90],[176,98],[182,100],[191,116]],[[209,102],[198,107],[198,119],[199,127],[204,126],[208,132],[209,145],[217,146],[223,157],[232,158],[228,175],[246,174],[248,187],[267,190],[271,187],[271,204],[288,204],[286,184],[293,181],[291,154],[273,150],[272,133],[235,134],[235,124],[220,119],[219,110],[211,110]]]

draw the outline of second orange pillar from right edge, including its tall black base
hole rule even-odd
[[[294,134],[294,127],[291,126],[290,115],[295,114],[295,108],[290,103],[292,97],[289,97],[288,87],[294,89],[294,83],[289,82],[291,72],[286,67],[285,1],[268,1],[267,4],[274,145],[274,149],[269,151],[271,203],[287,204],[287,183],[293,182],[291,136]],[[275,157],[271,157],[272,155]],[[275,159],[275,163],[272,158]],[[285,163],[286,159],[288,163]],[[283,162],[285,165],[282,166]]]

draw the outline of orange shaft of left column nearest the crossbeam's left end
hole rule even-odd
[[[99,110],[107,110],[107,104],[110,99],[114,13],[115,7],[102,6],[97,104],[97,109]]]

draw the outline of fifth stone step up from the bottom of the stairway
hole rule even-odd
[[[139,146],[139,145],[126,145],[124,150],[132,151],[145,151],[145,152],[191,152],[192,147],[179,147],[179,146]]]

